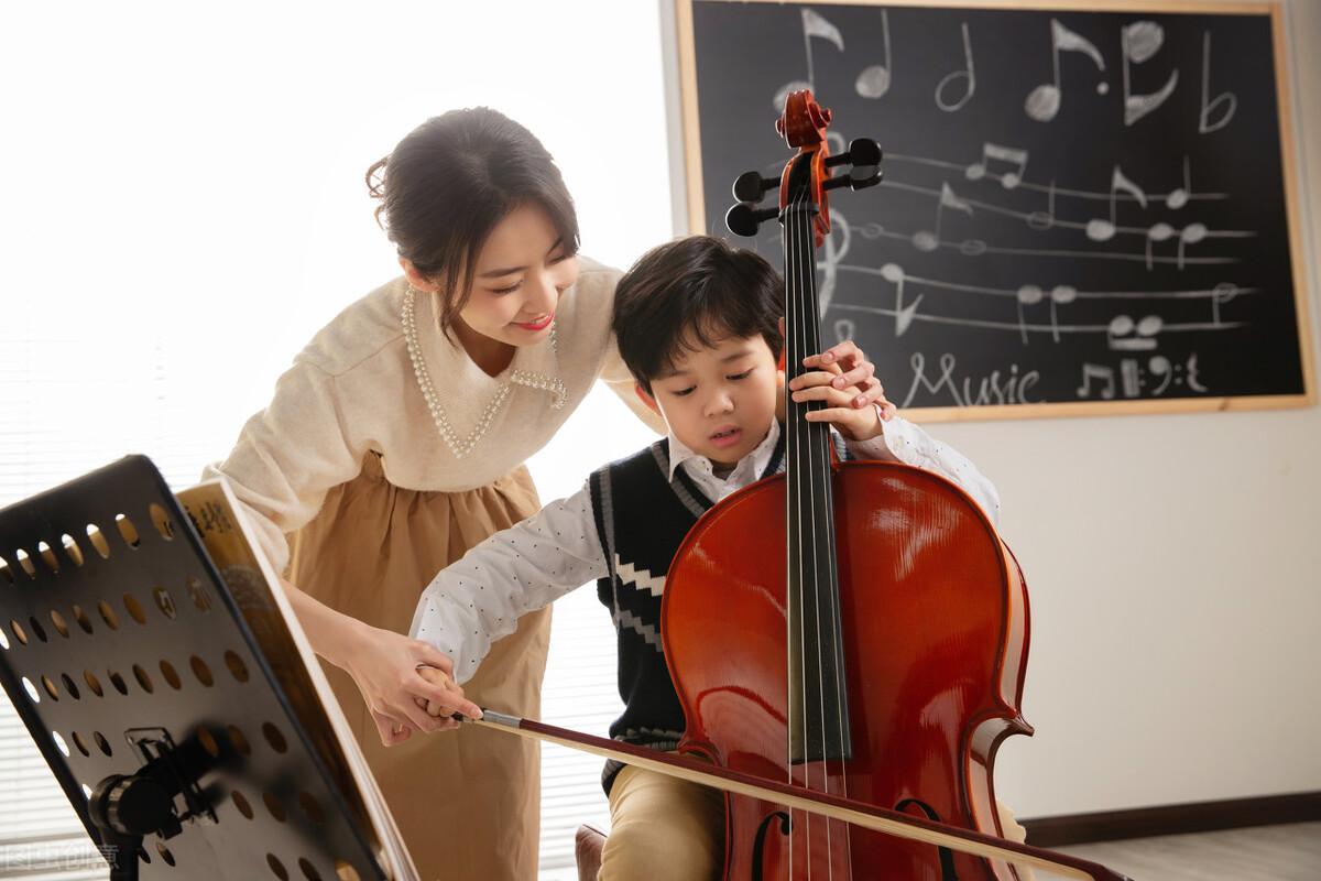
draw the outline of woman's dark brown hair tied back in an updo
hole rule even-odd
[[[489,107],[428,119],[367,169],[367,190],[380,199],[376,222],[399,256],[440,287],[436,314],[445,333],[468,302],[478,250],[514,209],[539,205],[565,254],[579,248],[573,199],[551,155]]]

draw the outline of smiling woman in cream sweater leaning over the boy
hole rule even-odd
[[[531,132],[452,111],[367,181],[403,277],[312,339],[209,476],[229,478],[287,573],[421,877],[534,878],[536,748],[481,729],[411,737],[445,724],[416,704],[439,691],[416,666],[448,659],[403,634],[436,572],[540,507],[523,462],[594,380],[660,425],[610,337],[618,273],[576,256],[572,199]],[[859,405],[881,399],[852,343],[832,351]],[[538,717],[548,639],[548,609],[523,618],[466,696]],[[473,783],[446,800],[435,782],[456,777]]]

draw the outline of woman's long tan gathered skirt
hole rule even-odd
[[[417,598],[440,569],[486,536],[535,514],[519,466],[489,486],[419,493],[390,483],[376,454],[337,486],[293,539],[289,580],[376,627],[408,633]],[[481,707],[540,717],[551,610],[524,616],[497,642],[464,692]],[[536,877],[540,758],[535,744],[481,728],[415,733],[380,745],[353,679],[324,663],[424,881]]]

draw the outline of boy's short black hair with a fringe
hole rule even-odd
[[[646,392],[684,349],[761,334],[779,358],[785,284],[766,260],[709,235],[662,244],[633,264],[614,293],[620,355]]]

